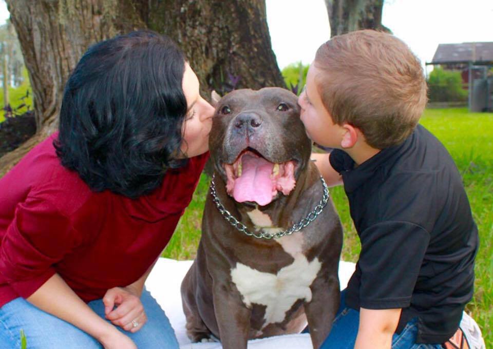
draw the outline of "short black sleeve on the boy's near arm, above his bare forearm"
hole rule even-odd
[[[419,225],[386,221],[365,229],[359,305],[368,309],[409,306],[430,235]]]

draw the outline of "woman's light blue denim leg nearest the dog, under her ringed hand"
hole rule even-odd
[[[121,327],[117,327],[119,331],[130,337],[139,348],[178,348],[175,331],[171,327],[168,318],[145,288],[140,300],[144,306],[147,322],[136,333],[130,333]],[[104,318],[104,304],[101,299],[89,302],[88,305],[96,314]]]

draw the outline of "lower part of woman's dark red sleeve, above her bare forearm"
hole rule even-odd
[[[0,275],[15,292],[28,298],[53,274],[53,264],[73,248],[69,219],[54,205],[28,197],[17,204],[0,246]]]

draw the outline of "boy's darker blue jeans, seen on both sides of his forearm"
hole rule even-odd
[[[418,321],[409,321],[400,334],[394,333],[392,349],[442,349],[440,344],[416,344]],[[346,290],[340,293],[340,306],[329,336],[320,349],[352,349],[358,334],[359,312],[346,306]]]

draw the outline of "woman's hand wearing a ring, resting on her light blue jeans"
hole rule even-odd
[[[113,287],[103,297],[104,314],[113,325],[135,333],[147,321],[140,294],[134,287]],[[113,309],[117,306],[116,309]]]

